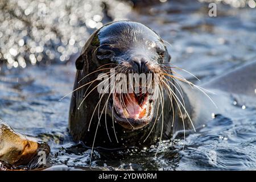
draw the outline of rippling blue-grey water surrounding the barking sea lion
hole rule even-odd
[[[5,1],[1,1],[0,7],[2,2]],[[21,0],[10,2],[23,4]],[[6,15],[13,6],[0,11],[6,15],[5,19],[13,21],[8,31],[5,31],[8,24],[0,25],[0,59],[3,62],[0,64],[0,118],[16,131],[47,142],[53,165],[89,166],[90,149],[72,142],[68,135],[70,97],[59,99],[73,88],[76,72],[73,55],[80,51],[94,27],[101,26],[102,22],[131,19],[150,26],[171,44],[168,50],[172,63],[201,79],[197,82],[184,75],[196,84],[256,59],[256,11],[246,6],[249,1],[230,1],[230,5],[225,1],[219,3],[217,17],[209,17],[208,3],[199,1],[170,1],[143,7],[138,4],[134,9],[130,3],[119,1],[105,1],[108,9],[102,7],[101,1],[77,1],[78,4],[67,1],[67,7],[73,7],[71,10],[53,1],[62,14],[55,14],[55,6],[52,6],[42,11],[43,20],[36,11],[30,11],[29,6],[34,10],[39,7],[38,2],[31,2],[20,7],[21,14],[30,15],[22,16],[23,22],[34,27],[32,22],[39,21],[42,31],[27,28],[22,23],[13,26],[20,21],[20,16]],[[42,2],[47,5],[51,1]],[[235,2],[240,2],[240,7]],[[81,12],[80,7],[86,12]],[[30,34],[32,30],[34,33]],[[40,36],[47,35],[44,31],[51,36]],[[62,34],[52,34],[59,31]],[[24,49],[20,39],[28,42],[28,48]],[[130,148],[114,152],[115,158],[112,153],[94,151],[92,166],[134,170],[255,169],[255,118],[254,107],[242,108],[240,103],[230,100],[230,110],[225,115],[216,115],[201,130],[187,134],[185,141],[180,137],[163,141],[156,157],[158,144],[143,151]]]

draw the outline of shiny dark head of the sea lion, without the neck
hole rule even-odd
[[[147,88],[150,84],[159,86],[159,83],[147,82],[146,92],[145,90],[142,92],[142,88],[145,88],[142,80],[139,81],[137,89],[134,86],[136,80],[133,80],[133,84],[130,84],[129,74],[137,74],[137,76],[143,76],[144,74],[146,80],[148,80],[147,76],[149,75],[154,80],[156,74],[163,74],[163,65],[167,64],[170,59],[171,57],[163,40],[155,31],[141,23],[119,21],[106,24],[90,36],[81,56],[76,61],[76,68],[85,72],[84,75],[92,72],[95,72],[96,75],[105,73],[108,78],[102,82],[107,81],[108,85],[113,84],[110,81],[110,74],[113,71],[115,78],[118,77],[119,73],[127,76],[125,80],[127,79],[127,85],[131,86],[133,92],[130,92],[130,90],[117,92],[118,89],[113,91],[109,88],[107,94],[103,91],[105,96],[102,98],[100,105],[104,106],[107,102],[107,108],[101,107],[101,110],[107,110],[109,116],[125,129],[136,130],[148,125],[156,117],[154,105],[157,98],[153,99],[152,95],[154,93],[152,93],[152,90],[149,93]],[[101,78],[105,77],[102,76]],[[139,77],[139,79],[142,79],[142,77]],[[158,77],[158,79],[161,79],[161,77]],[[117,82],[115,81],[116,88],[118,87]],[[119,86],[120,88],[121,86]],[[135,92],[136,89],[137,92]],[[159,91],[160,89],[156,90],[156,92]],[[98,113],[98,111],[94,113]]]

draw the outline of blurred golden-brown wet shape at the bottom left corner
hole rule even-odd
[[[45,162],[48,162],[50,150],[46,143],[16,133],[10,126],[0,121],[0,162],[4,162],[6,164],[4,166],[26,169],[40,167],[43,164],[40,159],[42,152]]]

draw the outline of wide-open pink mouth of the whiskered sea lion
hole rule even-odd
[[[113,93],[109,106],[119,125],[125,129],[140,129],[151,121],[153,103],[149,93]]]

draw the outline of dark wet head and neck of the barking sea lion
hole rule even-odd
[[[162,78],[159,80],[163,81],[164,75],[172,76],[171,66],[168,64],[170,59],[171,56],[160,36],[141,23],[113,22],[95,31],[76,60],[77,73],[69,112],[69,130],[73,138],[82,140],[90,147],[123,148],[155,143],[162,134],[162,139],[170,138],[174,130],[181,129],[180,125],[187,129],[191,128],[192,123],[184,121],[188,119],[185,115],[192,113],[189,103],[185,104],[187,107],[185,111],[185,107],[179,105],[181,95],[175,94],[178,93],[177,91],[170,92],[170,90],[179,90],[174,79],[168,84],[165,83],[164,87],[167,90],[161,90],[161,97],[144,102],[146,115],[144,114],[143,117],[136,116],[136,114],[142,114],[142,109],[139,98],[134,93],[126,96],[126,101],[123,101],[125,104],[120,104],[121,101],[119,103],[116,101],[117,97],[113,98],[115,94],[112,96],[105,94],[100,102],[97,89],[92,89],[97,87],[97,82],[94,80],[99,73],[106,73],[110,68],[117,67],[125,68],[118,70],[122,73],[151,73],[153,75],[160,73]],[[98,71],[98,68],[102,69]],[[85,96],[88,92],[89,95]],[[177,97],[177,103],[173,99],[170,100],[174,94]],[[148,93],[144,96],[148,99]],[[129,104],[127,97],[135,104]],[[186,96],[182,98],[182,101],[188,102]],[[107,102],[108,106],[106,106]],[[119,113],[127,115],[127,110],[116,109],[116,105],[131,107],[132,111],[129,111],[127,117],[124,114],[120,115]],[[102,111],[103,117],[101,117]],[[183,117],[183,114],[179,113],[184,113],[184,111]],[[181,120],[184,122],[180,124]]]

